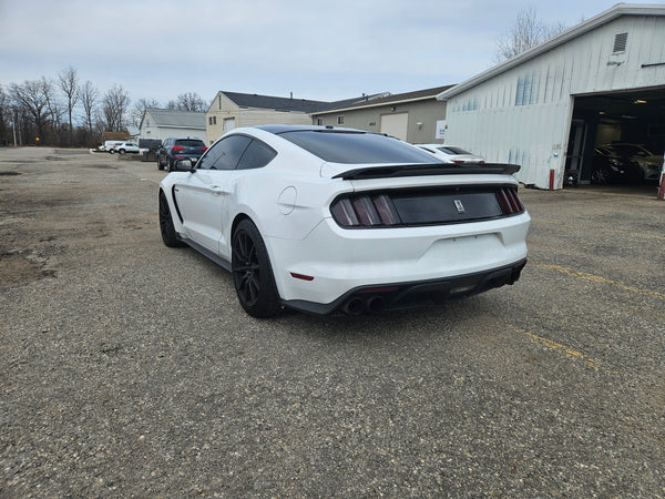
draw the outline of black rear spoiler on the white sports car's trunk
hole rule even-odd
[[[348,170],[335,175],[332,179],[367,180],[423,175],[512,175],[519,171],[519,164],[508,163],[400,164]]]

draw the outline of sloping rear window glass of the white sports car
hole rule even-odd
[[[438,163],[412,145],[372,133],[294,131],[279,136],[331,163]]]

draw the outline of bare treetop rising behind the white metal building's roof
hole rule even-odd
[[[494,62],[503,62],[561,33],[565,26],[561,22],[546,24],[538,19],[535,9],[528,7],[520,12],[507,33],[497,40]]]

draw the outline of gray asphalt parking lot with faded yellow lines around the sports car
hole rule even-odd
[[[0,497],[665,497],[665,202],[520,190],[514,286],[247,316],[155,163],[0,149]]]

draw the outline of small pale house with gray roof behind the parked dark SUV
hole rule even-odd
[[[139,139],[192,136],[205,141],[205,113],[149,108],[143,113]]]

